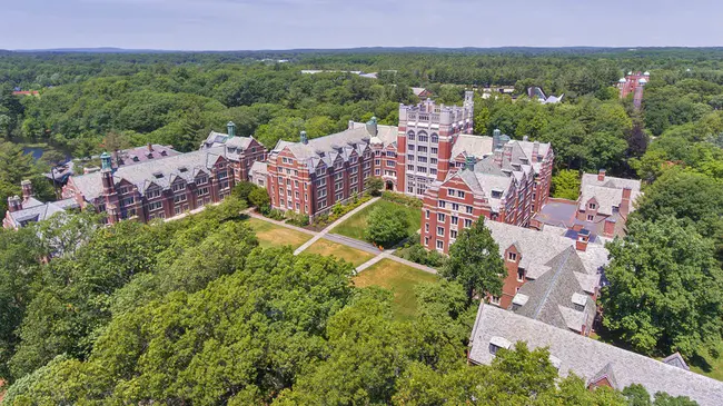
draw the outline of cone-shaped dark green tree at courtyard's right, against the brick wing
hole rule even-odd
[[[499,256],[499,246],[479,218],[471,228],[459,232],[459,237],[449,247],[449,259],[442,268],[442,275],[456,280],[465,287],[467,298],[475,295],[499,296],[502,294],[505,264]]]

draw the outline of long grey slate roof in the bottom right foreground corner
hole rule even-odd
[[[612,383],[617,389],[641,384],[651,394],[666,392],[672,396],[689,396],[701,406],[717,406],[723,399],[723,382],[481,304],[471,336],[472,362],[492,363],[492,337],[526,341],[531,349],[548,347],[549,354],[559,360],[559,375],[563,377],[575,373],[591,382],[604,372],[614,377]]]

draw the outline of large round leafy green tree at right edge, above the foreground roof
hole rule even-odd
[[[721,340],[723,270],[710,240],[672,217],[634,219],[607,249],[601,304],[614,337],[640,353],[685,357]]]

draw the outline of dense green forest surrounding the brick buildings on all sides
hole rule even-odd
[[[57,154],[33,161],[28,145],[77,158],[146,142],[189,151],[230,120],[273,147],[372,116],[396,125],[398,105],[416,102],[413,86],[444,103],[477,89],[475,133],[499,128],[553,143],[554,196],[576,198],[580,174],[600,168],[643,180],[627,237],[608,246],[602,339],[650,356],[680,351],[715,373],[722,61],[714,49],[10,53],[0,58],[0,209],[26,178],[52,197],[40,174]],[[628,70],[651,72],[640,110],[614,87]],[[515,98],[483,99],[487,86],[514,86]],[[564,93],[563,102],[529,100],[529,86]],[[544,350],[524,346],[471,367],[476,306],[457,283],[420,287],[418,315],[398,319],[388,291],[349,283],[349,264],[258,247],[242,207],[231,200],[180,221],[109,228],[91,214],[67,215],[0,231],[6,402],[650,404],[635,403],[637,387],[588,392],[580,378],[559,379]],[[655,402],[686,404],[664,394]]]

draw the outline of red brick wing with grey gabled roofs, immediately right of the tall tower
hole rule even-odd
[[[497,130],[493,138],[460,136],[457,141],[454,166],[426,190],[422,209],[422,245],[443,252],[481,217],[529,226],[549,196],[552,179],[549,143],[513,141]]]

